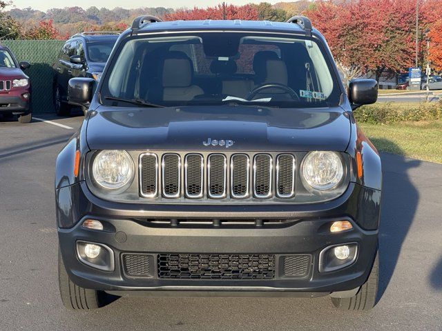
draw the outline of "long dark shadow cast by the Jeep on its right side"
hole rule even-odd
[[[376,146],[376,140],[372,142]],[[394,145],[394,143],[389,142]],[[395,146],[398,150],[400,148]],[[414,187],[410,170],[421,161],[393,154],[381,153],[383,167],[383,197],[381,226],[379,230],[380,299],[392,279],[394,269],[408,230],[414,220],[419,201],[419,192]]]

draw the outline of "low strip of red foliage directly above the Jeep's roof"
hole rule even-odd
[[[226,19],[247,19],[257,20],[258,10],[251,5],[245,6],[233,6],[229,5],[225,7]],[[166,21],[189,21],[189,20],[204,20],[204,19],[223,19],[224,9],[222,5],[208,8],[195,7],[191,10],[177,10],[172,14],[166,14],[164,19]]]

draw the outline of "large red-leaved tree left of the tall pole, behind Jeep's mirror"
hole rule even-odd
[[[320,1],[305,11],[349,68],[398,72],[412,66],[415,0]]]

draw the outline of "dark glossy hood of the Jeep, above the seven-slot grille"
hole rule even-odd
[[[350,130],[342,108],[100,106],[90,114],[86,139],[92,150],[345,151]],[[204,146],[209,138],[233,146]]]

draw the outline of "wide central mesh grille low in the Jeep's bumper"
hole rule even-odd
[[[273,279],[272,254],[158,254],[162,279]]]

